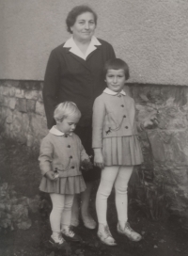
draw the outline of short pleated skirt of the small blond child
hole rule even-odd
[[[39,190],[46,193],[72,195],[85,191],[86,184],[82,175],[58,178],[56,181],[51,181],[43,176],[39,184]]]

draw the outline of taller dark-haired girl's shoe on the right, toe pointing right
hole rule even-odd
[[[138,232],[133,231],[133,229],[130,227],[129,222],[125,223],[124,229],[122,229],[118,224],[117,230],[118,233],[126,235],[133,242],[138,242],[142,239],[142,236]]]

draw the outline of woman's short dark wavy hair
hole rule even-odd
[[[75,24],[76,18],[85,12],[90,12],[93,14],[94,22],[97,24],[97,14],[95,13],[92,8],[89,8],[88,6],[77,6],[75,8],[72,8],[71,11],[68,13],[68,17],[66,19],[67,24],[67,30],[72,34],[71,26]]]

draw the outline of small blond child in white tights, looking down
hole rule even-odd
[[[50,242],[60,248],[66,244],[63,237],[69,241],[81,240],[70,229],[73,197],[86,189],[80,162],[90,163],[80,138],[73,133],[80,117],[76,104],[58,104],[54,113],[56,125],[43,138],[40,146],[42,180],[39,189],[50,194],[53,203]]]

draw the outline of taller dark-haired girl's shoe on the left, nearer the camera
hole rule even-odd
[[[102,225],[102,224],[100,224],[100,225]],[[117,242],[113,238],[107,225],[106,226],[102,225],[101,230],[97,232],[97,235],[103,244],[105,244],[107,246],[111,246],[111,247],[117,246]]]

